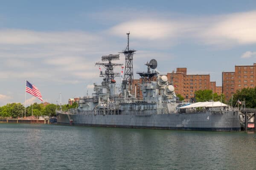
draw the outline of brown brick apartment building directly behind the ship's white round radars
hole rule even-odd
[[[173,82],[175,93],[183,96],[186,101],[194,98],[195,91],[198,90],[213,90],[213,93],[218,95],[222,93],[221,86],[216,87],[216,82],[210,82],[209,74],[187,74],[187,68],[177,68],[176,72],[167,73],[166,76],[169,82]],[[141,83],[142,79],[134,79],[133,94],[136,85],[137,96],[142,96]]]

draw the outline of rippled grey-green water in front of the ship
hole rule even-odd
[[[0,169],[253,170],[256,134],[0,123]]]

